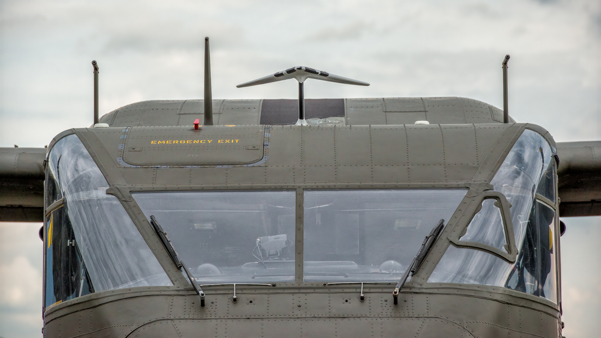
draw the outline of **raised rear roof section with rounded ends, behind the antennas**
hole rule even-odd
[[[191,126],[203,120],[204,100],[153,100],[115,109],[100,118],[110,126]],[[297,100],[213,100],[215,124],[294,124]],[[465,97],[387,97],[305,100],[305,115],[346,117],[346,124],[501,123],[502,111]],[[510,122],[514,120],[510,118]]]

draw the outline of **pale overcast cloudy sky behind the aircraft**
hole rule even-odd
[[[206,35],[215,99],[296,98],[294,81],[235,86],[308,66],[371,84],[309,80],[308,98],[463,96],[501,107],[501,61],[510,54],[515,120],[539,124],[557,141],[601,140],[598,0],[1,3],[1,147],[43,147],[65,129],[90,126],[91,60],[100,66],[101,115],[140,100],[201,98]],[[579,233],[601,227],[600,218],[567,223]],[[0,224],[8,241],[0,266],[5,338],[40,336],[39,227]],[[599,257],[572,243],[564,259]],[[601,303],[598,261],[592,266],[589,277],[564,286],[573,300],[564,300],[566,336],[585,337],[594,324],[569,309],[599,316],[591,305]],[[575,284],[583,279],[594,292]]]

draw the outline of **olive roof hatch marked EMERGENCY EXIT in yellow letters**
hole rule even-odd
[[[268,135],[263,125],[124,128],[123,167],[245,165],[263,159]]]

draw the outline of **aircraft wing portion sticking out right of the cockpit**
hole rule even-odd
[[[601,216],[601,141],[557,143],[560,216]]]

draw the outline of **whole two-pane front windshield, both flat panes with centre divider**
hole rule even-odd
[[[304,281],[397,281],[467,189],[304,191]],[[296,191],[136,192],[200,284],[295,279]]]

